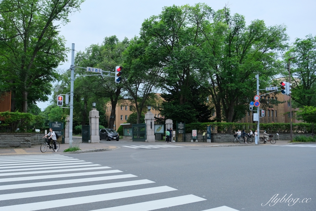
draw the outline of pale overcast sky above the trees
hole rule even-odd
[[[86,0],[81,11],[69,16],[70,23],[61,26],[60,34],[67,40],[66,47],[75,43],[76,51],[83,51],[91,44],[101,44],[104,37],[116,35],[120,40],[131,39],[139,34],[144,19],[158,15],[164,6],[206,3],[213,10],[229,5],[231,13],[239,13],[246,18],[247,24],[252,20],[264,20],[267,26],[285,24],[290,37],[304,38],[308,34],[316,35],[315,0],[159,0],[159,1],[126,1],[126,0]],[[60,69],[70,67],[68,62],[60,65]],[[41,109],[49,102],[40,102]]]

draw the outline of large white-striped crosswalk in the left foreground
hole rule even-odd
[[[44,160],[45,162],[40,162]],[[56,160],[60,162],[55,162]],[[120,181],[120,179],[125,180]],[[123,190],[123,187],[127,190]],[[93,191],[97,190],[99,192],[95,194]],[[56,208],[70,210],[67,206],[77,206],[71,207],[71,210],[80,208],[82,211],[149,211],[161,208],[172,210],[175,206],[206,200],[196,195],[159,199],[160,193],[176,191],[175,188],[158,186],[154,181],[138,179],[137,176],[125,174],[118,169],[63,155],[0,157],[0,211],[56,210]],[[119,201],[155,194],[159,195],[156,197],[158,199],[152,201],[129,204]],[[43,200],[43,197],[50,198]],[[110,200],[115,200],[115,206],[107,205],[106,201]],[[100,208],[99,203],[99,207],[93,209],[94,204],[98,202],[102,202],[103,207]],[[92,204],[91,208],[85,209],[87,207],[83,205],[88,203]],[[222,206],[204,211],[238,210]]]

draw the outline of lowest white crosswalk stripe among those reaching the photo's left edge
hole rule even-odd
[[[154,188],[128,190],[128,191],[107,193],[107,194],[100,194],[100,195],[89,195],[89,196],[82,196],[82,197],[76,197],[76,198],[58,199],[58,200],[52,200],[52,201],[41,201],[41,202],[28,203],[28,204],[11,205],[11,206],[0,207],[0,209],[1,211],[16,211],[16,210],[32,211],[32,210],[71,206],[71,205],[77,205],[77,204],[93,203],[93,202],[98,202],[98,201],[122,199],[122,198],[128,198],[128,197],[134,197],[134,196],[140,196],[140,195],[163,193],[163,192],[168,192],[168,191],[173,191],[173,190],[177,190],[177,189],[174,189],[168,186],[160,186],[160,187],[154,187]]]

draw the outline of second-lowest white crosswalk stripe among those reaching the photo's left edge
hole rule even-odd
[[[52,190],[40,190],[40,191],[32,191],[32,192],[3,194],[3,195],[0,195],[0,201],[10,200],[10,199],[22,199],[22,198],[29,198],[29,197],[37,197],[37,196],[44,196],[44,195],[75,193],[75,192],[82,192],[82,191],[89,191],[89,190],[118,188],[118,187],[142,185],[142,184],[149,184],[149,183],[155,183],[155,182],[150,181],[150,180],[134,180],[134,181],[127,181],[127,182],[114,182],[114,183],[79,186],[79,187],[72,187],[72,188],[61,188],[61,189],[52,189]],[[0,207],[0,209],[1,209],[1,207]]]

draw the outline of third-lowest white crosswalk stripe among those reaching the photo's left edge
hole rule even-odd
[[[82,182],[94,182],[94,181],[102,181],[102,180],[113,180],[113,179],[122,179],[122,178],[130,178],[130,177],[137,177],[137,176],[132,175],[132,174],[122,174],[122,175],[90,177],[90,178],[73,179],[73,180],[59,180],[58,185],[82,183]],[[51,182],[52,181],[50,181],[50,182],[23,183],[23,184],[15,184],[15,185],[2,185],[2,186],[0,186],[0,190],[50,186],[50,185],[52,185]],[[0,207],[0,209],[1,209],[1,207]]]

